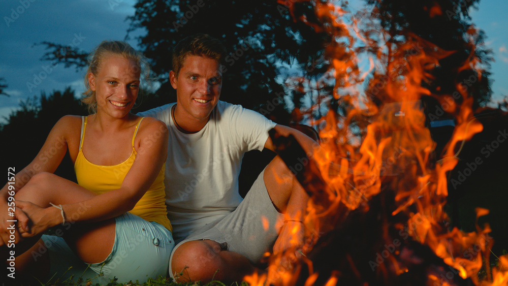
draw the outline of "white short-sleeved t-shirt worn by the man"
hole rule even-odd
[[[240,204],[238,175],[245,152],[262,150],[276,124],[263,115],[219,101],[210,120],[195,134],[180,132],[167,104],[138,115],[164,121],[169,130],[166,205],[179,241],[223,218]]]

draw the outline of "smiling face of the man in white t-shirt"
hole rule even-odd
[[[220,97],[219,62],[209,57],[187,55],[178,75],[171,71],[169,79],[176,89],[175,120],[187,132],[200,131]]]

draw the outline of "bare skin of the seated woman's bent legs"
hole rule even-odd
[[[51,173],[39,173],[16,193],[15,199],[28,201],[40,207],[50,207],[50,202],[55,205],[63,205],[81,202],[93,196],[96,195],[72,181]],[[86,204],[83,204],[83,210],[86,210],[86,207]],[[77,217],[72,219],[77,219]],[[70,223],[60,226],[55,233],[63,235],[67,244],[82,261],[99,263],[108,257],[113,248],[115,220],[112,218],[98,223]],[[34,243],[31,241],[31,245]],[[17,246],[16,248],[18,249]],[[36,262],[31,259],[30,253],[31,251],[28,250],[20,257],[19,269],[24,269],[27,273],[43,269],[40,262],[47,263],[48,259],[42,258]]]

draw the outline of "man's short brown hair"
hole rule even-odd
[[[207,34],[196,34],[183,38],[173,49],[172,65],[176,76],[188,55],[209,57],[223,64],[226,56],[224,44]]]

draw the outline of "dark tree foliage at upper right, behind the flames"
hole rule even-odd
[[[366,2],[375,7],[373,15],[388,31],[388,44],[397,47],[417,37],[442,49],[442,53],[452,52],[439,60],[424,87],[438,96],[466,89],[474,98],[474,109],[489,102],[492,51],[485,47],[484,31],[475,28],[469,16],[480,0]]]

